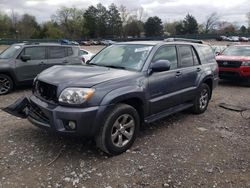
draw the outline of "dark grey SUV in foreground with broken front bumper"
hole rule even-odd
[[[32,96],[4,110],[46,130],[95,138],[104,152],[117,155],[131,147],[143,123],[188,108],[205,112],[217,82],[208,45],[124,42],[86,66],[45,70]]]

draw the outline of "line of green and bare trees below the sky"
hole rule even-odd
[[[246,15],[250,25],[250,13]],[[123,5],[101,3],[87,9],[61,7],[49,21],[38,23],[30,14],[18,15],[14,11],[7,15],[0,10],[0,38],[85,40],[91,38],[158,37],[185,34],[247,34],[249,27],[236,26],[220,21],[217,13],[208,15],[204,23],[187,14],[183,20],[166,22],[157,17],[148,17],[143,8],[128,11]]]

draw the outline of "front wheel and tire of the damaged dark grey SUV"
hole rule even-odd
[[[139,130],[140,118],[130,105],[118,104],[108,113],[96,136],[96,144],[110,155],[119,155],[129,149]]]

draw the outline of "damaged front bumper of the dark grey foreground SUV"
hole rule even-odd
[[[107,106],[72,108],[51,105],[35,96],[29,98],[28,120],[39,128],[64,135],[92,137],[103,121],[103,112]],[[69,121],[76,124],[70,129]]]

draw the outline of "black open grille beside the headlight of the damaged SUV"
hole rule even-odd
[[[46,101],[57,102],[57,87],[46,82],[36,81],[35,94]]]

